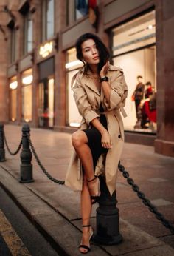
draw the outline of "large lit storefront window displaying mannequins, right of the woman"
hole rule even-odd
[[[156,23],[155,11],[113,30],[113,62],[128,84],[123,118],[125,129],[156,131]]]

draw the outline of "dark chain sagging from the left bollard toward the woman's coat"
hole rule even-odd
[[[65,181],[60,181],[60,180],[57,180],[56,178],[53,178],[52,175],[50,175],[49,172],[46,171],[45,167],[43,166],[43,164],[41,163],[40,159],[38,158],[37,153],[35,152],[35,148],[34,148],[34,146],[32,144],[31,139],[30,139],[29,133],[27,133],[27,139],[29,141],[29,145],[31,146],[32,153],[35,156],[35,160],[37,161],[38,166],[41,167],[41,170],[44,172],[44,174],[49,178],[49,180],[51,180],[51,181],[53,181],[55,183],[58,183],[60,185],[63,185],[65,183]]]

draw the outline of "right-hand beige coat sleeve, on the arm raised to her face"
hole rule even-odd
[[[128,87],[125,82],[125,76],[122,70],[111,71],[111,95],[110,103],[105,100],[105,106],[108,110],[114,110],[125,100],[128,95]]]

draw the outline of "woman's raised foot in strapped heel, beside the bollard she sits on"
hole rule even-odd
[[[87,180],[88,190],[91,195],[91,203],[94,204],[99,200],[100,197],[100,179],[94,176],[93,179]]]

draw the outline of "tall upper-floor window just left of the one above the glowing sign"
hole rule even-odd
[[[24,16],[24,54],[32,50],[32,13]]]

